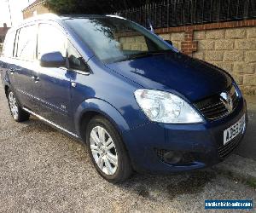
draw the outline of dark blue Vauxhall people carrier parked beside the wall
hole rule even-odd
[[[229,73],[118,16],[25,20],[9,30],[0,69],[15,121],[32,115],[83,141],[112,182],[217,164],[247,126]]]

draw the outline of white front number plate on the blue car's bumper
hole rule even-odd
[[[243,115],[236,124],[233,124],[227,130],[224,130],[224,145],[231,141],[236,135],[239,135],[245,126],[245,115]]]

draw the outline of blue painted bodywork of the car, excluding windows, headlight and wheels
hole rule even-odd
[[[78,135],[80,140],[84,131],[80,122],[84,114],[102,114],[119,131],[137,171],[170,173],[194,170],[222,160],[218,156],[218,147],[223,145],[223,131],[247,114],[246,102],[230,74],[177,52],[151,32],[147,32],[148,35],[168,51],[159,55],[104,61],[84,42],[86,37],[79,37],[67,21],[102,16],[38,17],[26,20],[21,26],[41,22],[60,26],[86,62],[88,70],[78,72],[68,66],[42,67],[39,59],[28,61],[15,55],[2,56],[0,68],[3,84],[15,90],[22,107]],[[12,28],[10,32],[18,31],[21,26]],[[63,62],[56,53],[44,55],[42,60],[48,64]],[[75,87],[72,83],[75,83]],[[201,124],[151,122],[134,97],[137,89],[157,89],[178,95],[195,108],[196,101],[219,94],[232,83],[239,93],[236,110],[214,121],[204,118]],[[236,140],[241,140],[241,137]],[[155,148],[193,153],[195,158],[190,164],[170,165],[158,158]]]

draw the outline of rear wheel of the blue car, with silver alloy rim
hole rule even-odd
[[[23,122],[28,120],[30,116],[29,113],[27,113],[20,107],[20,104],[18,103],[15,97],[15,93],[11,89],[8,89],[7,98],[9,102],[10,113],[12,117],[15,119],[15,121]]]

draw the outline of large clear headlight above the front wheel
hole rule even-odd
[[[195,124],[203,120],[182,98],[171,93],[137,89],[134,93],[138,105],[154,122],[165,124]]]

